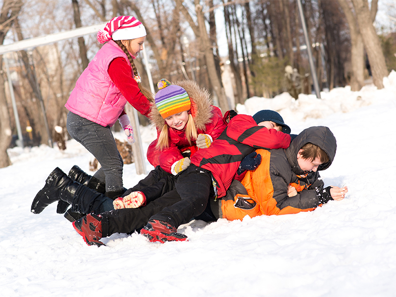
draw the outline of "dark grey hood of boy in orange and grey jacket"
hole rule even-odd
[[[304,172],[298,166],[297,153],[300,148],[302,148],[307,143],[314,144],[323,149],[329,157],[329,162],[319,165],[318,170],[325,170],[329,168],[336,155],[337,141],[328,127],[317,126],[303,130],[290,143],[290,147],[285,149],[286,156],[293,172],[296,174],[302,174]]]

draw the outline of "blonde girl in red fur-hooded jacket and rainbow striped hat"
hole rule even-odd
[[[155,196],[162,196],[168,190],[164,183],[169,179],[173,182],[173,177],[168,175],[176,176],[185,170],[190,165],[190,156],[198,149],[208,148],[226,127],[220,109],[211,105],[209,93],[196,82],[171,84],[161,79],[157,86],[159,91],[149,114],[157,129],[157,139],[147,151],[148,161],[155,169],[125,192],[123,198],[115,199],[115,209],[145,205],[146,197],[153,197],[153,188],[160,189]],[[150,195],[145,195],[143,190],[147,186],[151,186]]]

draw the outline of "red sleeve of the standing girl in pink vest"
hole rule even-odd
[[[150,102],[132,77],[132,69],[127,61],[121,57],[112,60],[108,66],[108,75],[125,99],[141,114],[148,116]]]

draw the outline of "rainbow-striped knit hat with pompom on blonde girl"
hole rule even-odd
[[[162,118],[191,109],[190,97],[180,86],[171,85],[167,79],[158,83],[158,92],[155,94],[155,105]]]

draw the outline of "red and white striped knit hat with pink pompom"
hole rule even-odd
[[[109,40],[129,40],[146,36],[146,29],[143,24],[134,16],[122,15],[112,18],[104,27],[99,30],[97,38],[99,43]]]

